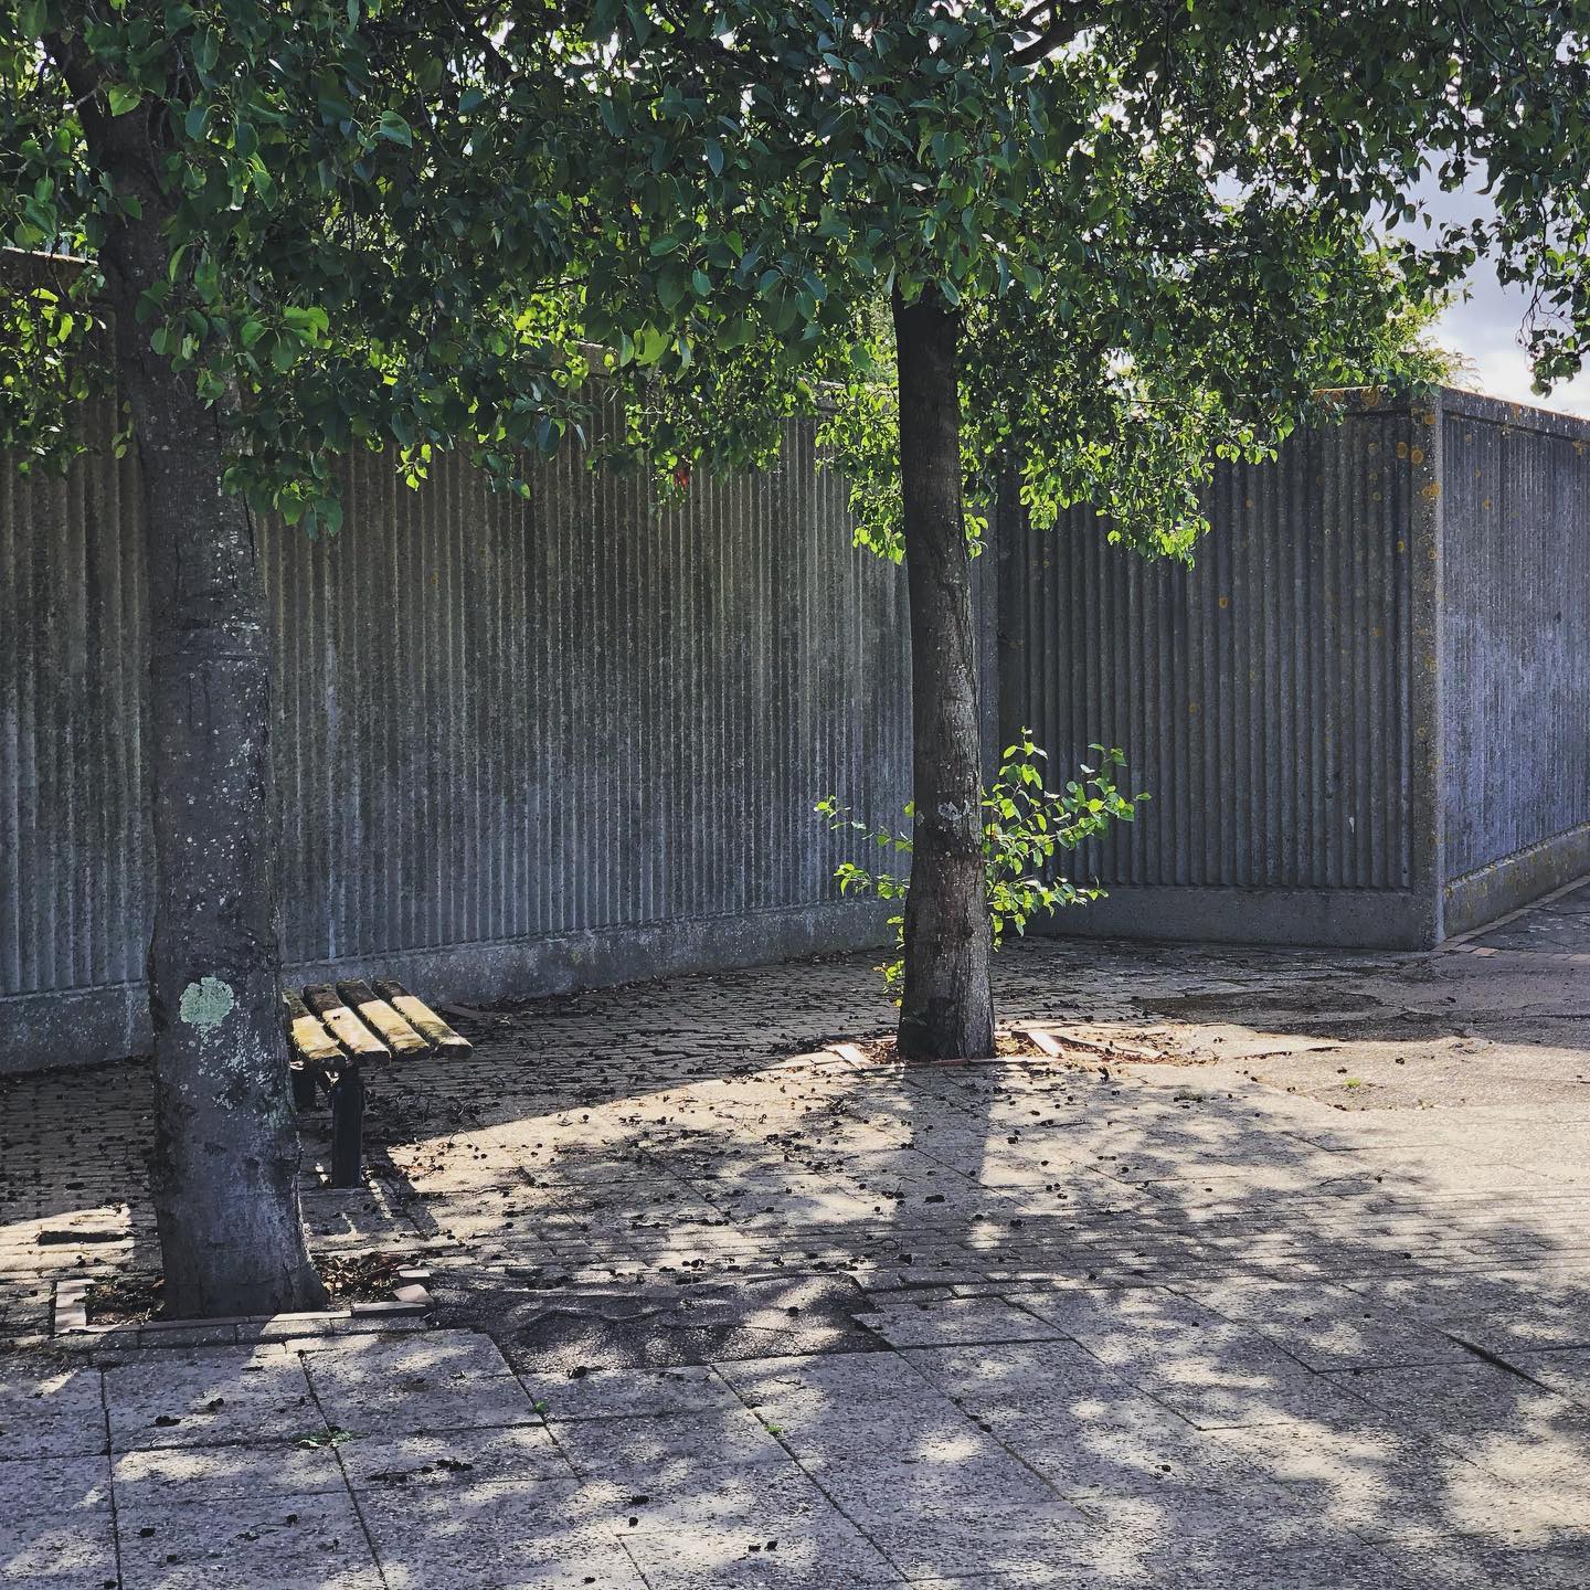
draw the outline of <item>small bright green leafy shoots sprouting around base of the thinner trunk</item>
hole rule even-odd
[[[1111,822],[1132,822],[1137,803],[1148,797],[1127,798],[1116,787],[1116,774],[1126,770],[1119,749],[1089,749],[1096,752],[1099,765],[1083,765],[1081,779],[1070,779],[1062,790],[1054,792],[1043,778],[1046,754],[1034,744],[1032,731],[1024,728],[1021,739],[1005,747],[999,776],[983,792],[984,892],[995,949],[1006,932],[1026,933],[1027,922],[1038,913],[1086,905],[1103,895],[1097,884],[1076,884],[1056,876],[1056,852],[1075,851],[1084,840],[1103,833]],[[816,809],[830,832],[857,833],[867,846],[892,855],[909,855],[913,851],[909,830],[870,827],[857,820],[833,795],[817,801]],[[905,814],[906,819],[914,817],[913,808],[906,806]],[[889,868],[873,871],[846,860],[833,876],[841,894],[870,894],[902,903],[900,913],[889,917],[900,954],[879,968],[889,992],[898,1000],[905,978],[903,902],[911,889],[909,868],[905,873]]]

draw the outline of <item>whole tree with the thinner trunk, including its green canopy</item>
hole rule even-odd
[[[1188,556],[1212,460],[1321,388],[1412,378],[1483,250],[1536,283],[1544,380],[1590,331],[1585,0],[598,3],[591,331],[679,479],[840,383],[862,539],[911,601],[900,1049],[992,1051],[970,560],[1002,469],[1040,522]],[[1417,183],[1496,210],[1410,235]],[[882,377],[892,374],[892,390]]]

